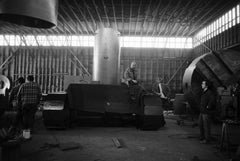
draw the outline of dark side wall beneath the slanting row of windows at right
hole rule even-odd
[[[225,48],[231,48],[237,45],[239,46],[240,45],[240,24],[206,41],[205,45],[214,51],[225,49]],[[209,49],[207,49],[204,45],[199,45],[196,48],[194,48],[194,57],[198,57],[207,52],[209,52]]]

